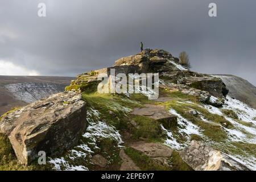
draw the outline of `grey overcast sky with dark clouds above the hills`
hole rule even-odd
[[[209,17],[209,3],[217,17]],[[46,17],[38,4],[46,4]],[[144,47],[256,85],[255,0],[0,0],[0,75],[76,76]]]

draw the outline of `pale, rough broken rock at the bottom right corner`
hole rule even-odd
[[[196,171],[249,171],[250,169],[221,151],[193,140],[181,158]]]

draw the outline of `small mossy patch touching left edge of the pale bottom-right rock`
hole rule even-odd
[[[172,171],[193,171],[193,169],[181,159],[179,152],[177,151],[172,151],[170,160],[172,164]]]

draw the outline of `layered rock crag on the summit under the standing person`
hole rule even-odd
[[[77,76],[71,85],[97,81],[98,74],[110,75],[111,69],[115,70],[115,75],[118,73],[125,73],[126,75],[129,73],[159,73],[160,77],[166,77],[174,84],[188,86],[200,90],[200,92],[204,91],[214,97],[222,98],[228,94],[228,89],[220,78],[189,71],[180,64],[178,58],[163,49],[145,49],[137,55],[122,57],[115,61],[113,67]]]

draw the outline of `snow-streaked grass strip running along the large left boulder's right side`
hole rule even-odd
[[[85,171],[88,170],[86,166],[72,165],[73,163],[88,163],[94,154],[94,151],[99,149],[97,142],[102,138],[112,138],[117,140],[118,146],[122,147],[123,143],[121,135],[113,126],[107,125],[104,121],[100,121],[100,114],[98,110],[88,109],[87,121],[88,127],[86,132],[82,135],[86,142],[69,150],[67,154],[61,158],[50,159],[48,163],[53,165],[53,169],[60,171]],[[72,164],[71,164],[72,163]]]

